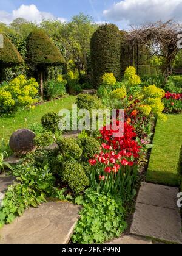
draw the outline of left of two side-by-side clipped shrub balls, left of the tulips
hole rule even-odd
[[[78,160],[81,157],[82,150],[79,148],[76,138],[62,138],[58,144],[61,148],[62,155],[66,159],[74,158]]]

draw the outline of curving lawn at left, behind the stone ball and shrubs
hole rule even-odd
[[[8,141],[15,130],[29,128],[33,123],[39,123],[41,117],[47,112],[59,112],[62,108],[71,109],[75,99],[75,96],[68,96],[67,98],[45,102],[42,105],[38,105],[34,110],[20,110],[12,116],[1,117],[0,139],[4,137],[5,141]],[[4,129],[2,128],[3,126]]]

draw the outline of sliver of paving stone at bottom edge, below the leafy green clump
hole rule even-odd
[[[152,244],[152,241],[134,235],[123,235],[106,244]]]

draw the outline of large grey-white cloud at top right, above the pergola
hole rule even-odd
[[[123,0],[103,11],[105,18],[124,24],[143,24],[149,21],[182,21],[181,0]]]

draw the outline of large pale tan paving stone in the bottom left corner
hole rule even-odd
[[[12,224],[0,229],[0,244],[67,244],[80,207],[69,202],[49,202],[29,208]]]

